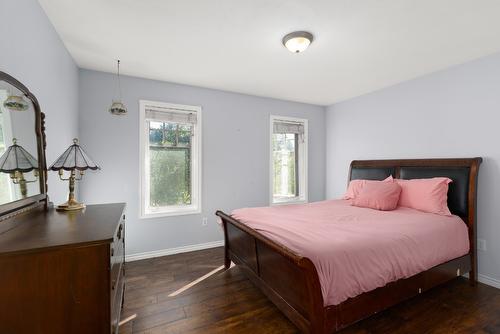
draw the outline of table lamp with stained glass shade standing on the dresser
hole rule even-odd
[[[75,199],[75,181],[82,179],[84,171],[87,169],[101,169],[78,144],[78,139],[73,139],[73,145],[49,167],[50,170],[58,171],[59,178],[63,181],[69,181],[68,201],[57,207],[58,210],[71,211],[79,210],[85,207],[85,204],[79,203]],[[63,178],[64,171],[70,172],[69,177]],[[78,174],[77,174],[78,171]]]

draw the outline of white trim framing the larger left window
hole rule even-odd
[[[148,180],[146,171],[146,140],[149,142],[149,137],[147,136],[148,132],[146,129],[146,108],[167,108],[167,109],[175,109],[180,112],[196,112],[197,121],[195,125],[195,142],[193,142],[193,152],[192,152],[192,193],[194,204],[189,206],[170,206],[167,208],[163,208],[158,212],[150,213],[146,212],[146,193]],[[157,102],[157,101],[148,101],[148,100],[140,100],[139,101],[139,218],[147,219],[147,218],[158,218],[158,217],[169,217],[169,216],[181,216],[181,215],[193,215],[201,213],[202,209],[202,182],[201,182],[201,171],[202,171],[202,146],[201,140],[202,138],[202,115],[201,115],[201,107],[200,106],[189,106],[182,104],[173,104],[166,102]],[[149,197],[149,196],[148,196]]]

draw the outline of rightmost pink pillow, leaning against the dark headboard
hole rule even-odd
[[[452,180],[449,178],[396,179],[396,182],[401,186],[400,206],[451,216],[450,209],[448,209],[448,184]]]

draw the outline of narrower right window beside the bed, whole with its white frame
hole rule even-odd
[[[271,204],[307,202],[307,120],[271,116]]]

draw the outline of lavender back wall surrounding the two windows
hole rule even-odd
[[[222,241],[215,211],[269,205],[269,116],[309,120],[309,200],[325,196],[323,107],[161,81],[122,77],[126,116],[107,108],[115,76],[80,70],[80,139],[101,164],[80,194],[88,203],[127,203],[127,254]],[[139,100],[202,107],[202,213],[139,219]],[[208,225],[202,226],[202,218]]]

